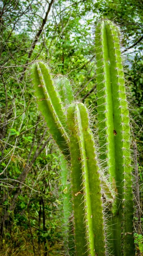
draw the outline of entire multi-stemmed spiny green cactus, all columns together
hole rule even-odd
[[[74,101],[68,79],[53,79],[40,61],[31,68],[39,110],[63,153],[59,191],[66,256],[135,256],[129,110],[119,35],[109,20],[96,28],[99,160],[87,108]]]

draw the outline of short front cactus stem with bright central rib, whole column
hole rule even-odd
[[[88,113],[82,103],[67,109],[70,134],[76,256],[104,256],[101,181]]]

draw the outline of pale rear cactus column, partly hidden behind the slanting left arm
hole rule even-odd
[[[74,100],[72,87],[70,81],[59,75],[58,78],[54,79],[56,90],[62,100],[63,106],[70,104]],[[70,163],[62,155],[60,157],[60,198],[62,199],[62,234],[64,242],[64,255],[73,256],[75,255],[75,244],[73,235],[73,212],[72,212],[72,200],[71,200],[71,183],[70,183]],[[61,214],[60,214],[61,215]]]

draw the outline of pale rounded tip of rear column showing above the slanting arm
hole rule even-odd
[[[70,81],[65,76],[58,76],[54,81],[63,104],[69,104],[74,101],[73,90]]]

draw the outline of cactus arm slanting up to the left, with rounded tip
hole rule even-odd
[[[50,133],[63,154],[68,155],[68,135],[65,128],[66,115],[48,66],[42,62],[33,64],[31,78],[39,110],[47,122]]]

